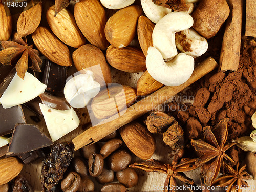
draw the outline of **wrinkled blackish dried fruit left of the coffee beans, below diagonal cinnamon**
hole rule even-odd
[[[74,157],[74,144],[72,142],[57,143],[50,154],[42,161],[41,183],[43,191],[56,191],[55,185],[63,179]]]

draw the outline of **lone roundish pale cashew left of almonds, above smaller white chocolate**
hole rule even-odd
[[[100,91],[100,84],[94,81],[93,73],[87,71],[66,82],[64,96],[73,108],[84,108]]]

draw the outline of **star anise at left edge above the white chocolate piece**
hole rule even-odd
[[[20,78],[24,79],[28,70],[28,59],[32,61],[30,67],[34,71],[41,71],[39,65],[42,63],[39,52],[33,49],[33,45],[28,46],[26,37],[23,39],[18,33],[13,34],[12,41],[0,41],[4,50],[0,51],[0,63],[11,65],[16,62],[16,71]]]

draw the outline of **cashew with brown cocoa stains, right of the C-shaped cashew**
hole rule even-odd
[[[183,53],[199,57],[208,49],[207,40],[194,29],[187,29],[175,34],[176,47]]]

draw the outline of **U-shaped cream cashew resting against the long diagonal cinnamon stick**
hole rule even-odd
[[[146,57],[148,73],[166,86],[179,86],[186,82],[194,71],[194,58],[179,53],[174,59],[164,62],[161,53],[149,47]]]

